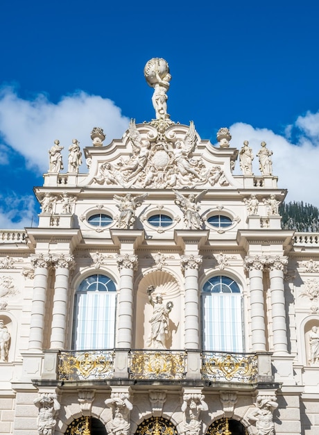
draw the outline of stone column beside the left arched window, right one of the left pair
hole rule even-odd
[[[69,271],[74,268],[74,256],[54,255],[52,262],[55,268],[55,283],[50,349],[62,350],[64,349],[65,329],[67,326]]]

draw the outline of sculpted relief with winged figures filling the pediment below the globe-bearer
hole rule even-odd
[[[193,156],[198,136],[192,121],[188,128],[175,124],[162,130],[154,124],[137,126],[131,120],[127,138],[130,155],[101,162],[94,183],[160,189],[228,185],[223,167],[207,167],[202,156]]]

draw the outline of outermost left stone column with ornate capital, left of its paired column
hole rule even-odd
[[[34,255],[31,257],[31,263],[33,263],[33,267],[35,268],[35,278],[31,306],[29,350],[42,351],[46,286],[48,280],[48,268],[49,265],[51,265],[51,256],[49,254]]]

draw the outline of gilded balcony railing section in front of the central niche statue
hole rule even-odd
[[[184,379],[186,357],[182,350],[132,350],[130,379]]]

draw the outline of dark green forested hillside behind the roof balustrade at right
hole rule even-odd
[[[282,203],[282,229],[295,229],[300,232],[319,232],[319,208],[303,202]]]

